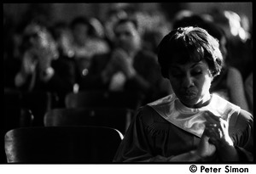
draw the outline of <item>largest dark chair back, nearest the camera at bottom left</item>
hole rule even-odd
[[[5,135],[8,163],[111,163],[122,134],[109,127],[22,127]]]

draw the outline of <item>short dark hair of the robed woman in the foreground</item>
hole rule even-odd
[[[180,64],[189,61],[199,62],[203,59],[211,70],[212,76],[218,76],[222,67],[222,54],[218,40],[200,27],[180,27],[167,34],[158,46],[158,61],[162,76],[168,78],[169,66],[174,57]]]

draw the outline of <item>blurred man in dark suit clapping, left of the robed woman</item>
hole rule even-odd
[[[154,53],[141,49],[137,20],[122,19],[113,28],[115,48],[91,60],[88,75],[79,83],[80,90],[131,90],[145,94],[145,100],[159,98],[166,90],[160,90],[164,78],[160,76]]]

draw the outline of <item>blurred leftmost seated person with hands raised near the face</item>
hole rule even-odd
[[[20,71],[15,86],[26,91],[47,91],[64,96],[73,91],[74,65],[59,58],[55,41],[43,25],[26,26]]]

